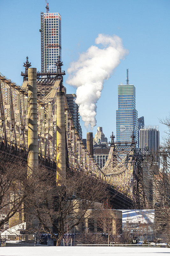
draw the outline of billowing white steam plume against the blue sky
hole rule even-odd
[[[128,53],[119,36],[99,34],[95,43],[102,44],[102,49],[90,46],[67,70],[70,75],[66,83],[77,87],[76,103],[86,129],[89,124],[91,129],[96,125],[96,103],[101,96],[104,80],[111,76]]]

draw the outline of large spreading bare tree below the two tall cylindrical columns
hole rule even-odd
[[[60,245],[64,234],[74,228],[82,232],[87,210],[99,207],[96,202],[106,198],[106,188],[82,172],[67,170],[60,184],[56,183],[55,172],[45,173],[46,177],[43,171],[34,173],[37,186],[28,200],[26,221],[32,231],[48,233]]]

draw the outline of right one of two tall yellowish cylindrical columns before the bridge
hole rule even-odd
[[[57,183],[66,178],[64,104],[64,92],[57,92]]]

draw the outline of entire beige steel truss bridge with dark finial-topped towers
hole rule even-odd
[[[58,61],[56,72],[37,73],[38,105],[38,148],[39,161],[56,170],[56,120],[57,92],[63,87],[62,62]],[[0,74],[0,151],[4,155],[27,159],[28,146],[28,68],[22,86]],[[65,93],[65,92],[64,92]],[[107,184],[114,195],[112,203],[116,209],[129,209],[144,199],[142,166],[147,152],[136,148],[134,135],[132,142],[114,142],[105,166],[100,169],[85,148],[74,126],[65,95],[66,163],[74,171],[82,171]],[[140,198],[139,198],[140,197]]]

